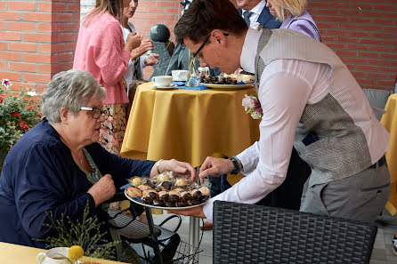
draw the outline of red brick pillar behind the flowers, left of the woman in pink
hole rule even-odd
[[[43,92],[72,67],[79,13],[79,0],[0,2],[0,78]]]

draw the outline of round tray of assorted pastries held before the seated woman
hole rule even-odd
[[[205,204],[210,198],[207,186],[176,178],[173,172],[163,172],[152,179],[134,176],[128,181],[131,186],[125,190],[126,197],[143,206],[165,210],[188,209]]]

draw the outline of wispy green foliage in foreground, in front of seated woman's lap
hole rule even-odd
[[[85,250],[85,256],[115,260],[116,245],[120,241],[108,242],[103,238],[106,233],[103,233],[100,229],[101,225],[98,225],[98,218],[96,216],[89,217],[88,202],[85,205],[81,221],[73,221],[67,216],[67,224],[65,224],[63,215],[61,220],[54,220],[52,212],[48,213],[48,217],[50,224],[44,223],[43,225],[53,228],[57,236],[37,239],[45,242],[46,247],[80,245]]]

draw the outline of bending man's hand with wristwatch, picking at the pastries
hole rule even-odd
[[[207,176],[221,176],[222,174],[233,171],[234,165],[231,160],[226,158],[219,158],[207,156],[206,160],[200,167],[199,177],[201,183]]]

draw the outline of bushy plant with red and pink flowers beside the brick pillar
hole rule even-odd
[[[32,98],[36,92],[11,92],[11,83],[0,86],[0,153],[7,153],[20,137],[40,122],[40,104]]]

